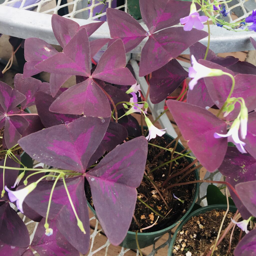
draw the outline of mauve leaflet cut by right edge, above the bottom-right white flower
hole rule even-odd
[[[238,183],[235,188],[238,195],[243,202],[243,205],[251,213],[252,216],[256,216],[256,180]]]

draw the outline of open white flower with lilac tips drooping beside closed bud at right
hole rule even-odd
[[[240,126],[240,120],[239,120],[239,118],[236,118],[233,121],[227,134],[220,134],[220,133],[215,132],[214,137],[215,138],[228,137],[228,142],[234,143],[236,145],[237,149],[241,153],[247,153],[243,147],[243,146],[245,146],[245,143],[243,141],[241,141],[238,136],[239,126]]]

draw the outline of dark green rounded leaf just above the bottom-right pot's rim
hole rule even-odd
[[[215,185],[208,185],[206,191],[207,205],[227,204],[227,197],[223,195],[220,189]],[[230,205],[235,205],[232,198],[228,198]]]

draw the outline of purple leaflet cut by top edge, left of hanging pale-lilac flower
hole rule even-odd
[[[178,24],[180,18],[189,15],[190,5],[175,0],[140,0],[141,16],[150,33]]]

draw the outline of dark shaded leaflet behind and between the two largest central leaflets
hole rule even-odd
[[[110,122],[109,127],[95,153],[92,155],[88,167],[94,164],[106,151],[111,151],[127,138],[127,130],[119,123]]]

